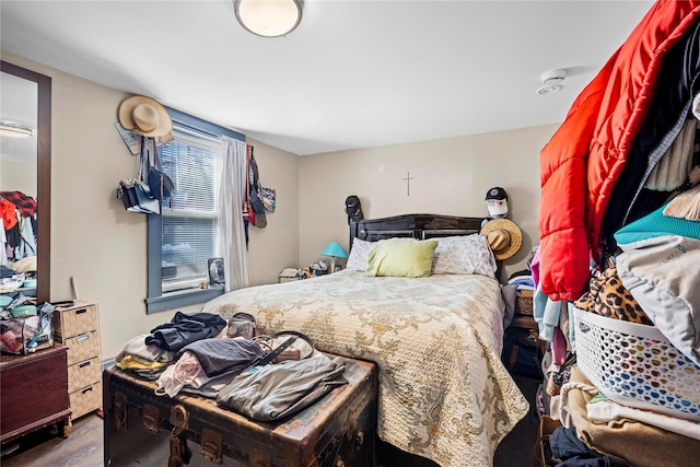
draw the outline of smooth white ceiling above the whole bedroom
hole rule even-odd
[[[304,155],[560,122],[652,3],[307,0],[262,38],[232,1],[2,0],[0,44]]]

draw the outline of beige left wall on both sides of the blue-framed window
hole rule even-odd
[[[119,179],[137,170],[114,126],[128,95],[11,54],[2,52],[2,59],[52,79],[51,301],[70,299],[75,278],[79,296],[100,305],[103,359],[113,358],[129,339],[174,314],[145,314],[147,218],[127,212],[115,197]],[[279,197],[268,226],[250,230],[250,277],[257,284],[277,281],[283,265],[298,261],[299,157],[253,143],[261,182]]]

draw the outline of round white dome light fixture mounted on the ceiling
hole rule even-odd
[[[233,0],[238,23],[262,37],[285,36],[302,21],[303,0]]]

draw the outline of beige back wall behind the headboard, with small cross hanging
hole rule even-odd
[[[539,150],[557,126],[307,155],[300,162],[300,260],[308,265],[330,242],[347,252],[345,199],[358,195],[365,219],[405,213],[486,217],[487,190],[509,194],[523,247],[504,273],[525,269],[538,244]],[[387,131],[390,131],[388,129]],[[410,195],[407,182],[410,173]]]

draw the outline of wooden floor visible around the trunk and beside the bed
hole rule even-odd
[[[538,381],[520,375],[513,377],[523,395],[530,401],[530,411],[499,445],[494,456],[494,467],[529,467],[533,465],[538,424],[534,401]],[[102,466],[104,464],[102,423],[102,418],[90,415],[73,421],[73,427],[67,439],[60,437],[54,427],[28,434],[18,442],[2,446],[0,465],[2,467]],[[380,446],[377,458],[385,467],[436,466],[432,462],[410,456],[386,444]]]

